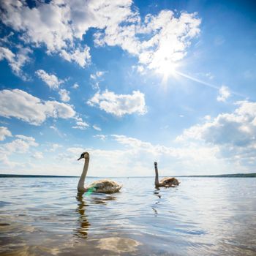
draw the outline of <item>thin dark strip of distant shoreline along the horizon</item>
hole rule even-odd
[[[54,176],[54,175],[20,175],[20,174],[0,174],[0,178],[79,178],[80,176]],[[154,176],[132,176],[132,177],[108,177],[108,178],[154,178]],[[176,176],[179,178],[256,178],[256,173],[236,173],[220,175],[188,175]],[[89,176],[88,178],[106,178]]]

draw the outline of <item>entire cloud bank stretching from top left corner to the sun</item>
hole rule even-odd
[[[21,32],[24,42],[35,47],[43,44],[48,53],[58,53],[81,67],[91,60],[89,47],[81,42],[93,28],[97,46],[119,46],[145,67],[160,70],[186,56],[200,32],[196,15],[182,12],[176,18],[172,11],[163,10],[141,20],[132,0],[56,0],[37,2],[36,7],[22,0],[1,3],[2,22]]]

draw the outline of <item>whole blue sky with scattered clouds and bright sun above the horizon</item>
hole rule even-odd
[[[0,2],[0,173],[253,173],[254,1]]]

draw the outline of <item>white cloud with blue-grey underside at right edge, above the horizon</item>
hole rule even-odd
[[[178,140],[187,138],[205,140],[207,143],[244,146],[256,142],[256,103],[237,102],[233,113],[222,113],[205,124],[185,129]]]

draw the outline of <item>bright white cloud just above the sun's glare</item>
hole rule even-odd
[[[182,12],[175,18],[172,11],[163,10],[159,15],[146,15],[144,23],[140,22],[138,14],[136,18],[132,24],[118,24],[97,32],[94,42],[99,46],[118,45],[138,56],[144,67],[163,72],[186,56],[191,39],[200,32],[200,19],[196,18],[196,13]],[[140,35],[146,35],[148,39]]]

